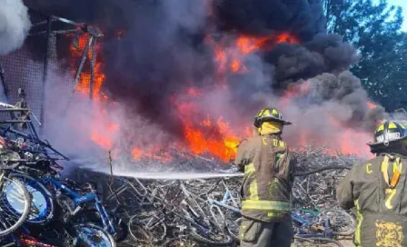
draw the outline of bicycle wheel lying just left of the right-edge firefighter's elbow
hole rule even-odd
[[[356,229],[356,221],[348,212],[343,210],[323,210],[322,214],[329,218],[334,235],[350,236]]]

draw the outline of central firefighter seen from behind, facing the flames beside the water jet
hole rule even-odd
[[[239,144],[235,164],[243,172],[241,246],[289,247],[293,238],[291,193],[295,158],[283,142],[277,109],[254,118],[256,134]]]

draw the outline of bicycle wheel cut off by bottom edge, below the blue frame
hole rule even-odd
[[[71,227],[74,246],[77,247],[116,247],[114,238],[103,228],[91,224],[75,224]]]

